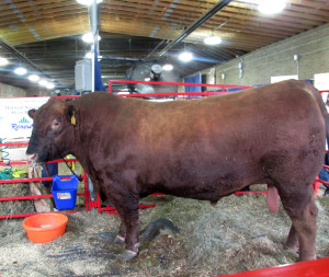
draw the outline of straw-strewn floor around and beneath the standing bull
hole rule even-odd
[[[97,211],[68,215],[66,233],[53,242],[29,241],[23,219],[0,220],[0,276],[220,276],[296,262],[284,250],[290,219],[266,208],[264,195],[207,201],[150,196],[140,210],[140,230],[166,218],[180,229],[164,229],[141,243],[131,262],[117,258],[123,245],[111,241],[118,216]],[[329,196],[318,200],[318,257],[329,256]],[[329,270],[329,269],[328,269]]]

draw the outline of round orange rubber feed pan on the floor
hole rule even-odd
[[[45,243],[65,233],[68,217],[63,213],[46,212],[24,219],[23,227],[30,241]]]

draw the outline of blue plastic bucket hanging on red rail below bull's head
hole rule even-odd
[[[66,177],[66,180],[61,180]],[[69,177],[69,180],[67,180]],[[52,193],[57,209],[73,209],[77,201],[78,178],[75,175],[54,175]]]

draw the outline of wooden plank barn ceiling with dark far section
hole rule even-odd
[[[160,58],[159,53],[220,1],[215,0],[104,0],[99,4],[100,55],[104,82],[124,79],[135,60],[171,61],[181,77],[280,42],[329,22],[328,0],[288,0],[274,15],[258,11],[256,0],[228,1],[189,36]],[[76,0],[1,0],[0,56],[10,64],[0,68],[0,82],[29,89],[26,77],[13,68],[25,65],[32,72],[54,79],[57,86],[73,88],[75,64],[90,46],[81,41],[90,32],[89,9]],[[212,33],[223,43],[206,46]],[[189,49],[195,60],[177,61]]]

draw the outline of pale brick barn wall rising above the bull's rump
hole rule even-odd
[[[271,82],[271,76],[297,74],[294,55],[299,56],[300,80],[314,79],[315,73],[329,72],[329,24],[242,56],[242,78],[239,77],[239,58],[215,67],[216,83],[264,84]],[[209,74],[209,69],[202,73]]]

